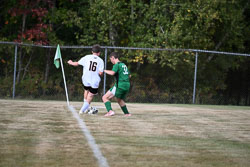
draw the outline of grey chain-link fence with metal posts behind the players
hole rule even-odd
[[[109,54],[117,51],[131,71],[127,102],[250,105],[249,54],[110,46],[102,49],[100,57],[106,69],[112,68]],[[55,52],[56,46],[0,42],[0,98],[65,100],[62,72],[53,64]],[[91,46],[61,46],[70,101],[83,100],[82,67],[69,66],[67,61],[78,61],[90,53]],[[114,77],[104,75],[94,100],[101,101],[113,84]]]

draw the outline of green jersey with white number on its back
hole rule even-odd
[[[112,71],[115,72],[116,87],[120,88],[120,89],[124,89],[124,90],[129,90],[129,88],[130,88],[130,82],[129,82],[130,72],[128,70],[128,67],[122,62],[118,62],[113,66]]]

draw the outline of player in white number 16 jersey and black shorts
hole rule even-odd
[[[68,61],[72,66],[83,66],[82,83],[84,87],[84,103],[79,111],[79,114],[86,113],[89,105],[98,92],[99,83],[103,74],[104,62],[99,57],[101,54],[100,45],[92,47],[92,54],[82,57],[79,61]]]

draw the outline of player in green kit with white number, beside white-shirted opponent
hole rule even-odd
[[[127,66],[119,60],[119,55],[117,52],[112,52],[110,54],[110,61],[113,65],[112,70],[104,70],[106,74],[114,75],[116,78],[115,85],[107,91],[107,93],[102,97],[102,100],[105,104],[105,107],[108,111],[105,116],[113,116],[115,112],[111,108],[110,99],[114,96],[117,98],[117,102],[120,105],[125,116],[131,116],[128,112],[127,106],[124,102],[124,99],[129,92],[130,88],[130,72],[128,71]]]

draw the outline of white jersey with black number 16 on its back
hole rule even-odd
[[[96,55],[86,55],[78,61],[78,64],[83,66],[83,85],[98,88],[101,81],[99,72],[103,72],[104,69],[103,60]]]

